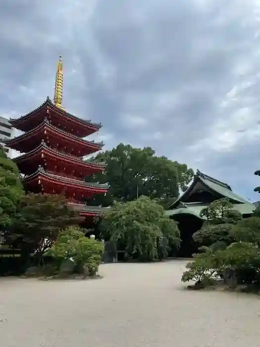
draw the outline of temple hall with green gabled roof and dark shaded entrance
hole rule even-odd
[[[227,198],[233,203],[233,209],[244,218],[250,217],[256,206],[235,194],[227,183],[223,183],[200,171],[194,175],[189,188],[170,206],[166,215],[178,222],[181,236],[179,256],[190,257],[197,251],[193,233],[200,230],[204,218],[200,216],[203,208],[217,199]]]

